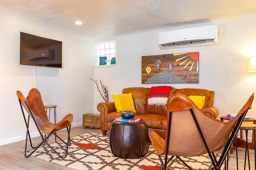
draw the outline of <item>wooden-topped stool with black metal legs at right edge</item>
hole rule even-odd
[[[250,157],[249,157],[249,147],[248,147],[248,130],[253,130],[253,136],[252,136],[252,140],[254,140],[254,164],[255,164],[255,170],[256,170],[256,140],[255,140],[255,129],[256,129],[256,125],[252,124],[252,123],[248,123],[248,122],[243,122],[240,130],[245,130],[245,135],[246,135],[246,146],[245,146],[245,158],[244,158],[244,170],[246,167],[246,156],[248,156],[248,166],[249,166],[249,170],[250,168]],[[237,149],[237,137],[236,137],[236,149]],[[237,165],[237,169],[238,169],[238,154],[237,154],[237,150],[236,150],[236,165]]]

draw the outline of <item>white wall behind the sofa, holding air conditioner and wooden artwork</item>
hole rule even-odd
[[[215,91],[214,106],[220,115],[237,113],[247,98],[256,91],[256,74],[246,71],[248,57],[256,55],[256,13],[234,16],[222,20],[198,24],[170,26],[144,32],[119,35],[117,37],[98,37],[97,41],[116,40],[116,66],[94,68],[94,78],[104,80],[112,94],[122,93],[126,87],[151,87],[161,84],[141,83],[141,57],[199,51],[199,84],[163,84],[175,88],[205,88]],[[186,47],[160,50],[158,32],[217,24],[219,44],[201,47]],[[99,93],[94,91],[94,111],[102,102]],[[248,112],[256,118],[256,101]],[[220,118],[220,117],[218,117]]]

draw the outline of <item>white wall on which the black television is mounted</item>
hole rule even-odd
[[[72,127],[82,125],[82,115],[94,111],[94,86],[88,78],[97,63],[94,38],[4,12],[0,20],[0,145],[25,139],[16,91],[26,96],[35,87],[34,66],[19,64],[20,31],[62,41],[63,68],[36,66],[36,88],[44,104],[57,105],[57,121],[72,113]],[[35,126],[30,133],[38,135]]]

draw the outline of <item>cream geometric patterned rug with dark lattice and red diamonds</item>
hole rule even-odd
[[[98,133],[85,133],[71,138],[66,158],[59,158],[48,146],[40,147],[32,157],[57,164],[72,170],[160,170],[161,163],[150,144],[146,156],[140,159],[123,159],[114,156],[109,147],[108,136]],[[61,142],[51,144],[63,155],[65,150]],[[180,156],[193,170],[210,170],[213,166],[208,154],[203,156]],[[218,158],[218,154],[216,155]],[[224,166],[224,165],[223,165]],[[187,170],[188,168],[174,158],[167,167],[169,170]]]

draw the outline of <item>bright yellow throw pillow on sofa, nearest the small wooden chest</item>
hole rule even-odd
[[[132,98],[132,93],[118,94],[118,95],[112,94],[112,97],[114,99],[116,111],[122,112],[122,111],[130,110],[130,111],[136,113],[133,98]]]

